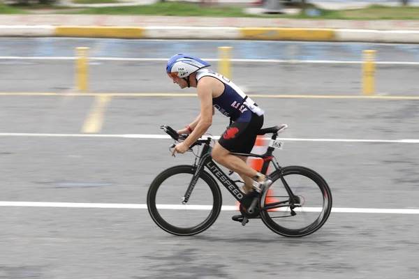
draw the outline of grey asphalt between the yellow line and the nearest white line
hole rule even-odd
[[[57,102],[58,98],[61,103]],[[80,96],[73,100],[65,98],[1,97],[2,116],[8,116],[1,117],[1,132],[80,133],[93,100]],[[284,138],[419,139],[413,121],[417,116],[413,109],[417,101],[255,99],[267,112],[265,126],[288,124],[289,129],[281,135]],[[183,109],[184,103],[189,107]],[[196,98],[115,97],[105,111],[101,133],[166,135],[159,126],[182,128],[185,121],[198,114],[197,106]],[[409,110],[411,114],[406,119]],[[208,133],[218,136],[227,124],[228,119],[216,114]],[[3,200],[142,203],[147,186],[157,173],[193,160],[192,154],[171,158],[168,151],[171,140],[0,139],[2,152],[11,153],[3,156],[4,163],[8,162],[3,165]],[[416,145],[291,140],[286,142],[284,151],[276,153],[282,165],[302,164],[318,169],[330,182],[337,207],[381,208],[391,204],[390,207],[409,208],[416,207],[419,198],[414,191],[419,179],[415,170]],[[22,169],[26,171],[20,173]],[[80,195],[79,187],[66,186],[66,181],[99,185],[85,187]],[[395,199],[400,189],[413,192],[406,193],[404,199]],[[97,195],[98,190],[101,195]],[[228,195],[224,202],[233,205]]]

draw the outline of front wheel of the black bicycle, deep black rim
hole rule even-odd
[[[196,169],[191,165],[170,167],[149,187],[147,207],[152,220],[164,231],[177,236],[199,234],[211,227],[221,211],[221,190],[203,169],[189,201],[183,204]]]

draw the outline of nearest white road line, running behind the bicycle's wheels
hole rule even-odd
[[[77,209],[147,209],[147,204],[101,204],[82,202],[0,202],[6,207],[61,207]],[[212,206],[182,204],[160,204],[158,209],[168,210],[210,210]],[[221,211],[238,211],[237,206],[222,206]],[[320,212],[321,207],[303,207],[295,211]],[[419,214],[419,209],[365,209],[365,208],[332,208],[333,213],[377,213],[377,214]]]

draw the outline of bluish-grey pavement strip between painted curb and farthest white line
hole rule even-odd
[[[89,47],[89,57],[168,59],[174,52],[219,58],[217,47],[233,47],[232,59],[362,61],[363,50],[376,50],[378,62],[419,62],[419,45],[384,43],[292,42],[258,40],[124,40],[103,38],[1,38],[0,57],[74,57]],[[1,61],[11,65],[28,61]],[[156,61],[161,62],[163,61]]]

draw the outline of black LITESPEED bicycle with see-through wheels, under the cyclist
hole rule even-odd
[[[244,197],[243,193],[237,186],[237,183],[240,181],[233,181],[232,179],[230,179],[226,172],[223,172],[221,168],[218,165],[216,165],[216,163],[214,163],[211,157],[212,146],[210,146],[212,139],[210,137],[207,137],[207,139],[203,140],[201,137],[201,139],[193,143],[188,149],[188,151],[193,151],[194,146],[203,146],[203,149],[199,155],[194,153],[195,161],[193,165],[176,165],[173,167],[169,167],[168,169],[165,169],[163,170],[163,172],[158,174],[149,186],[149,190],[147,192],[147,209],[149,211],[150,216],[152,217],[152,220],[154,220],[154,223],[156,223],[156,225],[158,225],[164,231],[177,236],[191,236],[194,234],[199,234],[211,227],[219,216],[222,204],[221,190],[219,188],[219,184],[216,183],[216,180],[214,179],[215,177],[221,182],[223,186],[226,187],[228,192],[231,195],[233,195],[233,197],[237,199],[237,201],[240,203],[239,209],[242,215],[244,216],[242,220],[243,226],[246,225],[250,219],[260,218],[263,221],[263,223],[269,229],[272,230],[272,232],[275,232],[281,236],[302,237],[308,236],[309,234],[313,234],[314,232],[316,232],[325,224],[326,220],[328,220],[330,216],[330,211],[332,209],[332,193],[325,179],[323,179],[323,177],[314,170],[309,169],[308,167],[298,165],[281,167],[277,162],[276,158],[272,155],[275,149],[282,149],[283,142],[277,141],[277,135],[283,132],[287,127],[288,126],[286,126],[286,124],[283,124],[281,126],[260,129],[258,135],[265,135],[267,133],[272,134],[270,144],[268,145],[267,151],[264,154],[260,155],[253,153],[231,152],[231,154],[238,156],[262,158],[263,165],[260,172],[263,174],[267,173],[267,169],[270,163],[272,163],[274,165],[274,171],[269,174],[270,178],[273,181],[272,185],[275,183],[275,181],[281,181],[287,193],[287,195],[284,196],[286,197],[285,199],[279,200],[278,202],[265,203],[269,189],[263,189],[261,193],[258,193],[258,195],[253,197],[251,205],[245,207],[242,203]],[[168,135],[170,135],[170,137],[172,137],[172,139],[175,140],[175,142],[182,142],[186,139],[186,137],[188,137],[188,135],[178,135],[175,130],[170,128],[170,126],[161,126],[161,129],[163,129]],[[172,144],[169,150],[174,147],[175,144]],[[208,170],[210,170],[214,177],[211,176],[205,170],[205,167]],[[205,209],[210,210],[210,214],[199,225],[194,225],[191,227],[177,227],[166,222],[166,220],[164,220],[161,217],[161,214],[159,213],[158,207],[163,211],[165,209],[165,206],[158,206],[156,204],[157,191],[159,190],[164,181],[166,181],[169,178],[172,178],[172,176],[179,174],[189,174],[192,176],[189,183],[185,183],[184,190],[182,190],[181,199],[182,205],[184,206],[188,204],[189,198],[191,197],[193,189],[196,187],[198,179],[202,179],[204,181],[204,185],[210,187],[210,192],[212,193],[212,201],[214,202],[214,206],[205,207]],[[284,227],[284,225],[279,225],[274,222],[273,218],[275,217],[270,217],[270,213],[275,211],[282,213],[289,211],[290,215],[282,216],[279,218],[292,218],[293,216],[297,215],[296,211],[301,211],[302,205],[305,203],[304,197],[300,195],[294,195],[293,190],[291,190],[291,187],[285,180],[285,177],[291,174],[296,174],[297,176],[305,176],[310,181],[314,181],[314,183],[316,183],[316,186],[318,186],[318,188],[321,190],[321,195],[323,196],[323,206],[317,209],[317,211],[320,210],[320,216],[318,216],[318,218],[310,225],[297,229],[291,229],[288,227]],[[270,187],[272,187],[272,185]],[[170,187],[172,187],[172,184]],[[303,204],[302,199],[304,199]],[[211,197],[206,197],[205,201],[207,200],[211,201]],[[180,206],[179,208],[182,208],[182,206]],[[313,212],[316,210],[310,209],[307,212],[310,211]],[[175,215],[177,216],[177,214]]]

